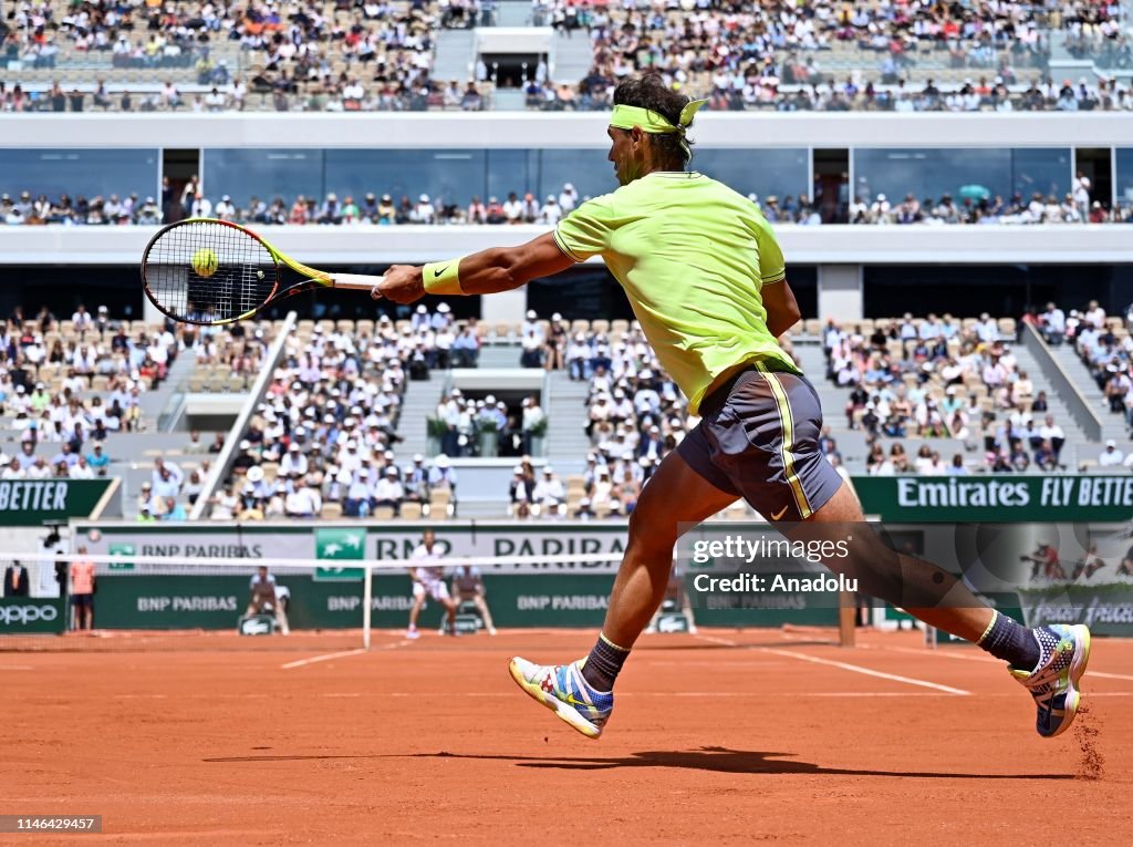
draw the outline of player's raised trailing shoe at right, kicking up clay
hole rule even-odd
[[[1065,732],[1077,714],[1077,685],[1090,661],[1090,630],[1082,624],[1053,624],[1038,627],[1034,637],[1041,651],[1034,670],[1007,670],[1034,697],[1036,730],[1043,738],[1054,738]]]

